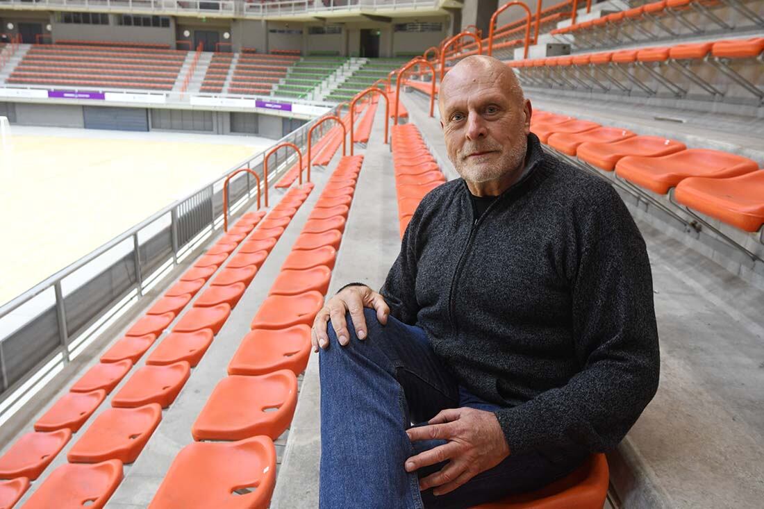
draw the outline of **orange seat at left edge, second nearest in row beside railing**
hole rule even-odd
[[[0,457],[0,478],[26,477],[34,481],[70,438],[72,431],[68,428],[50,433],[33,431],[22,435]]]

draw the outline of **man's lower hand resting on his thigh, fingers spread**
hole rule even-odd
[[[441,471],[419,480],[419,490],[435,488],[435,495],[446,494],[475,475],[494,468],[510,455],[507,440],[493,412],[474,408],[451,408],[429,420],[427,426],[406,430],[409,439],[442,439],[448,443],[421,452],[406,460],[406,472],[450,460]]]

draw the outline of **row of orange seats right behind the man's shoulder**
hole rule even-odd
[[[669,195],[744,232],[764,225],[764,171],[747,157],[658,136],[638,136],[565,115],[533,112],[531,130],[542,143],[574,163],[613,172],[626,182]]]

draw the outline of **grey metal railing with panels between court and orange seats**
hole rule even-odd
[[[249,173],[230,181],[224,200],[231,171],[246,167],[262,176],[264,154],[284,142],[306,146],[306,133],[316,121],[0,306],[0,422],[212,237],[222,227],[224,201],[229,213],[254,202],[257,186]],[[293,158],[286,147],[271,155],[277,168],[271,182]]]

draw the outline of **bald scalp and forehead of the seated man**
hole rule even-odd
[[[496,83],[510,97],[513,102],[520,105],[525,96],[520,82],[510,66],[494,57],[487,55],[471,55],[446,73],[440,83],[438,92],[438,107],[443,113],[443,103],[452,93],[458,93],[463,87],[474,86],[478,83]]]

